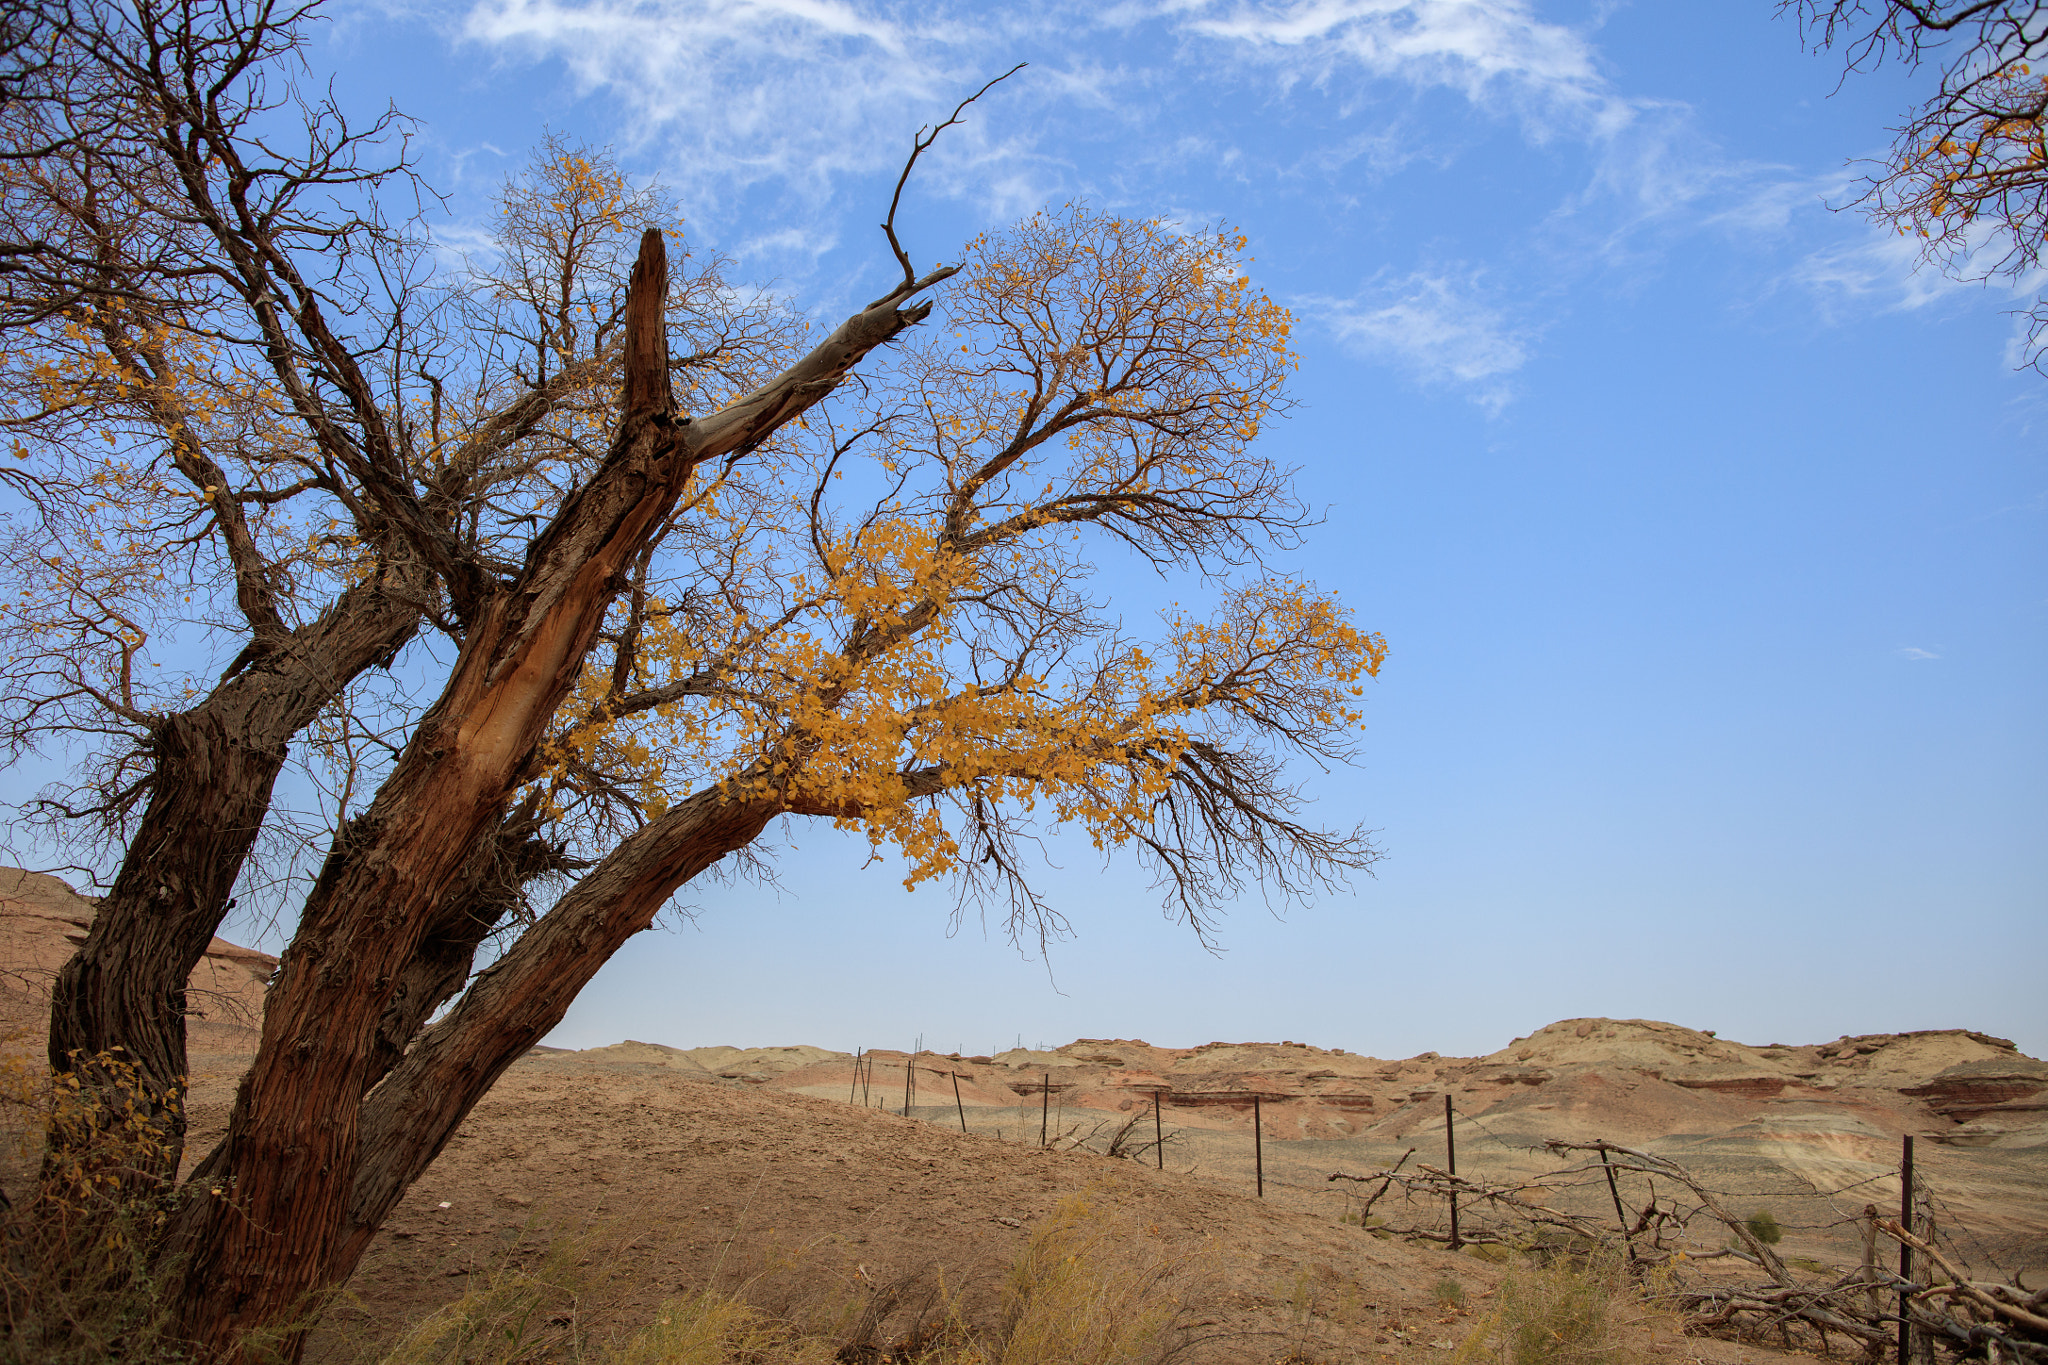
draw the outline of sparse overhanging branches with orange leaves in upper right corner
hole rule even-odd
[[[2044,0],[1784,0],[1849,72],[1937,61],[1937,90],[1892,129],[1892,151],[1855,201],[1923,260],[1962,278],[2028,284],[2048,246],[2048,53]],[[2028,311],[2040,366],[2048,301]]]

